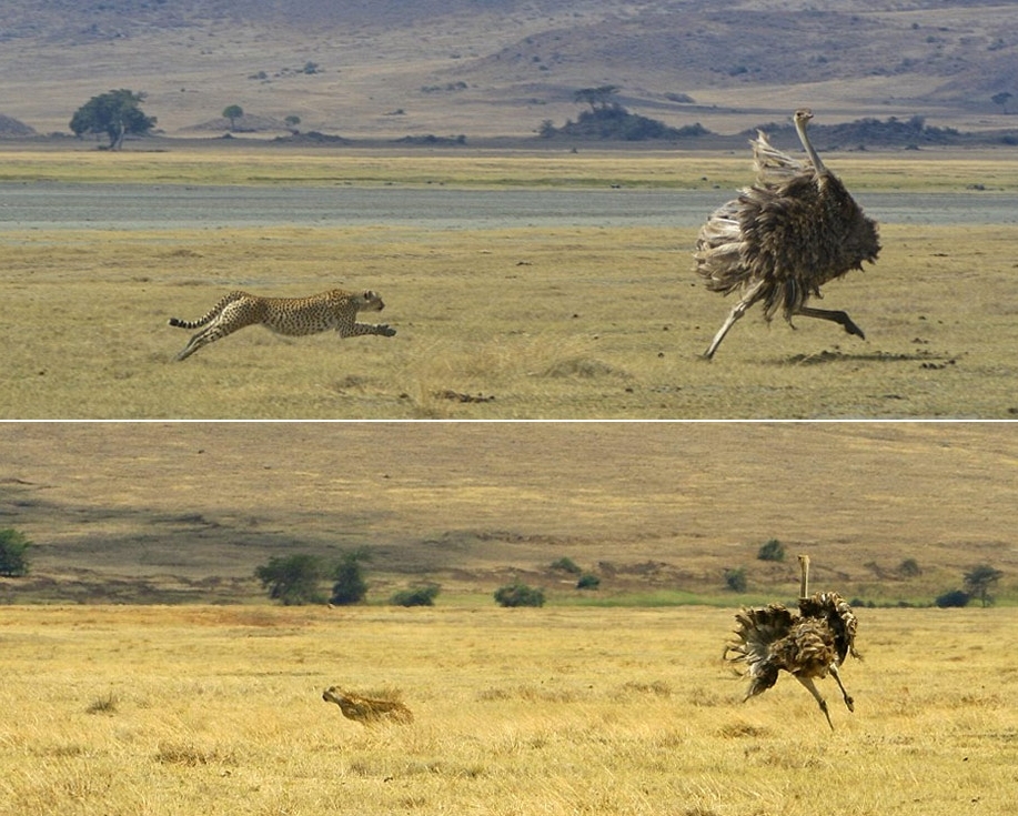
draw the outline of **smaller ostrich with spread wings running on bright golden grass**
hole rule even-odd
[[[827,702],[814,679],[823,679],[828,673],[834,676],[848,711],[855,711],[855,702],[841,685],[838,666],[848,655],[859,657],[855,649],[856,616],[848,602],[836,592],[807,594],[808,555],[799,556],[799,614],[782,604],[743,610],[735,616],[738,639],[727,645],[725,657],[748,665],[749,692],[743,702],[770,688],[777,682],[778,672],[785,669],[813,695],[834,731]]]

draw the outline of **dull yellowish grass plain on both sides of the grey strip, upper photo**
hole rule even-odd
[[[0,179],[244,184],[718,188],[746,159],[12,153]],[[850,158],[854,189],[1018,187],[1018,163]],[[972,193],[992,194],[992,193]],[[885,224],[880,261],[826,288],[860,342],[750,313],[706,364],[732,302],[692,272],[695,230],[397,224],[4,230],[3,419],[1010,417],[1014,224]],[[284,281],[284,282],[283,282]],[[242,286],[383,294],[399,332],[337,341],[245,330],[170,364],[195,318]],[[54,316],[56,315],[56,316]],[[478,399],[480,397],[480,399]]]

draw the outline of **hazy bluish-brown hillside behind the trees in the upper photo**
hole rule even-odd
[[[808,104],[817,124],[926,117],[1010,124],[1010,2],[845,0],[6,0],[0,110],[67,132],[129,87],[169,133],[240,104],[344,137],[530,135],[577,89],[735,133]],[[319,70],[305,72],[314,63]],[[31,70],[27,70],[30,68]],[[684,100],[684,101],[676,101]]]

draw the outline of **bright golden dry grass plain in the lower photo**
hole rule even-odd
[[[8,607],[4,816],[1009,813],[1008,611],[863,611],[864,662],[742,704],[730,611]],[[332,678],[415,723],[324,716]],[[111,709],[90,711],[115,698]]]

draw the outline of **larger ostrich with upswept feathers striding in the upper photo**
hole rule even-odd
[[[766,133],[757,131],[750,142],[756,183],[712,213],[699,231],[694,258],[707,289],[742,294],[704,352],[707,360],[757,301],[764,302],[768,321],[782,309],[789,325],[793,315],[802,314],[839,323],[865,339],[845,312],[806,305],[809,298],[822,296],[827,281],[863,269],[863,261],[876,261],[880,251],[876,222],[863,214],[809,143],[810,119],[808,110],[795,112],[795,129],[809,157],[805,164],[776,150]]]

